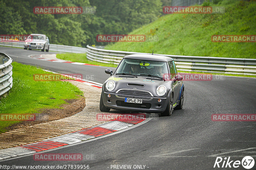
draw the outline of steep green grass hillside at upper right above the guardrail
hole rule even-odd
[[[129,34],[157,36],[157,41],[117,42],[105,49],[154,53],[256,58],[255,42],[212,42],[212,35],[255,35],[256,1],[220,0],[224,14],[167,14]]]

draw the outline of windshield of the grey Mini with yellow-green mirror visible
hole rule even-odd
[[[159,77],[164,77],[168,74],[168,68],[166,62],[124,59],[117,67],[115,72],[115,74],[122,73],[135,74],[137,76],[140,76],[141,74],[150,74]]]

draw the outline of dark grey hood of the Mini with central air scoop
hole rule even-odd
[[[140,77],[138,78],[133,77],[133,76],[116,76],[112,75],[108,78],[108,80],[105,81],[108,82],[109,80],[113,80],[116,83],[116,87],[114,90],[111,91],[111,93],[115,93],[119,89],[137,89],[137,90],[145,90],[145,91],[150,91],[153,96],[158,96],[156,95],[156,88],[160,85],[165,85],[167,88],[167,94],[170,90],[168,86],[171,83],[170,81],[163,81],[161,79],[157,78],[151,78],[151,77]],[[105,85],[104,83],[104,85]],[[107,91],[105,89],[102,89],[104,91]],[[164,97],[164,96],[163,96]]]

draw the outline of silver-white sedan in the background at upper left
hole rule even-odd
[[[25,40],[24,49],[40,49],[41,51],[49,51],[50,42],[44,34],[30,34]]]

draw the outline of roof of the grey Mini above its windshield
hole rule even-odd
[[[125,59],[143,59],[143,60],[153,60],[153,61],[172,61],[171,57],[167,57],[164,55],[157,55],[157,54],[131,54],[124,57]]]

